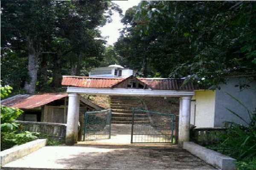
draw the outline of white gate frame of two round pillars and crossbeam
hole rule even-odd
[[[79,117],[79,102],[81,94],[94,95],[121,95],[121,96],[173,96],[180,97],[179,111],[179,130],[178,144],[189,141],[189,115],[190,100],[195,94],[194,91],[175,91],[175,90],[151,90],[151,89],[123,89],[123,88],[84,88],[84,87],[67,87],[68,109],[67,109],[67,133],[66,144],[73,145],[77,143],[77,130]]]

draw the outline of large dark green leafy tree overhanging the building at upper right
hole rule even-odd
[[[180,59],[171,77],[191,75],[216,88],[227,77],[256,75],[255,10],[252,1],[143,1],[134,20],[145,20],[140,31],[157,32],[157,42],[181,42],[172,44],[171,55]]]

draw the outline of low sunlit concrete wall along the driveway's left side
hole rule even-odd
[[[47,139],[37,139],[35,141],[27,142],[10,149],[1,151],[1,166],[7,164],[16,159],[20,159],[23,156],[28,155],[29,153],[34,152],[35,150],[44,147],[47,144]]]

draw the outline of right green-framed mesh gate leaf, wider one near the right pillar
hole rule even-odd
[[[174,114],[133,108],[131,143],[173,143]]]

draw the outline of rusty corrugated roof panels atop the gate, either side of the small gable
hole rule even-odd
[[[119,82],[128,78],[110,78],[110,77],[76,77],[63,76],[62,85],[84,88],[112,88]],[[151,89],[155,90],[197,90],[198,85],[189,82],[183,85],[184,79],[159,79],[159,78],[137,78],[144,82]]]

